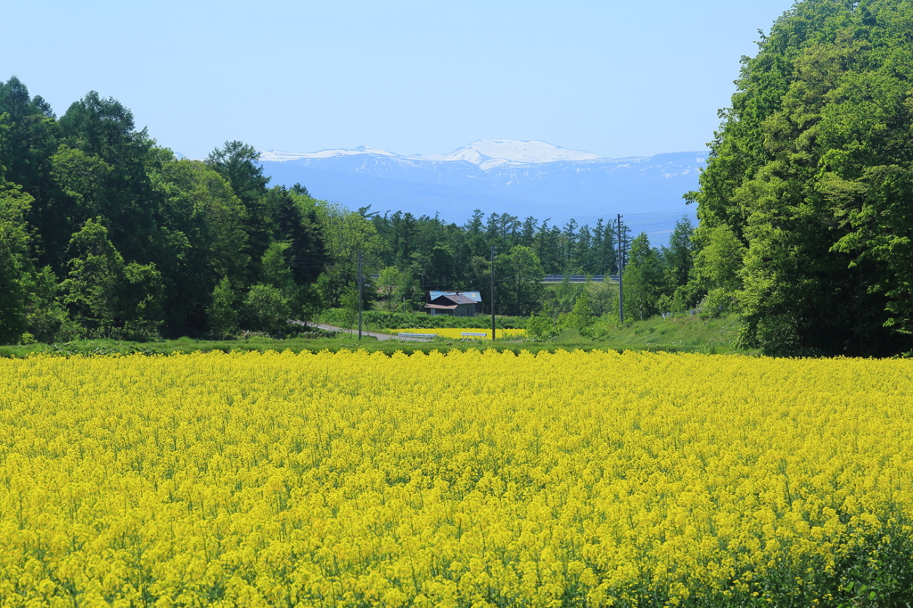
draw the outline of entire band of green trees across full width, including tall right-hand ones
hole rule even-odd
[[[610,290],[594,306],[593,290],[540,278],[621,261],[626,320],[735,312],[740,346],[770,354],[913,350],[913,4],[804,0],[758,44],[686,194],[698,226],[682,218],[658,248],[614,221],[350,210],[270,187],[243,142],[178,159],[118,101],[90,92],[58,118],[14,77],[0,83],[0,341],[288,331],[357,306],[362,254],[375,309],[418,309],[428,289],[488,306],[494,284],[501,314],[607,318]]]

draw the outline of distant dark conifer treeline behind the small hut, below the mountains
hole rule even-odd
[[[534,217],[520,220],[476,210],[465,225],[440,217],[362,214],[377,234],[374,250],[383,269],[375,282],[375,306],[390,311],[415,309],[425,291],[480,291],[488,311],[491,294],[491,253],[495,249],[495,299],[498,314],[526,316],[540,310],[545,274],[614,274],[618,268],[617,225],[599,220],[591,228],[571,220],[563,227]],[[622,254],[630,246],[622,229]]]

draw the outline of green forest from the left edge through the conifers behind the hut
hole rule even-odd
[[[466,225],[379,215],[269,187],[256,150],[178,159],[131,111],[92,91],[59,118],[0,83],[0,341],[288,331],[368,305],[420,307],[427,289],[478,289],[498,312],[541,308],[543,273],[617,271],[617,225],[476,212]],[[622,231],[624,252],[631,240]]]

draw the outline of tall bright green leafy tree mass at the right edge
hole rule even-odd
[[[698,296],[775,354],[913,348],[913,5],[806,0],[743,58],[698,203]]]

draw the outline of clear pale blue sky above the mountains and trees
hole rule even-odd
[[[703,150],[792,0],[9,4],[0,79],[58,115],[98,90],[194,158],[490,138],[620,157]]]

